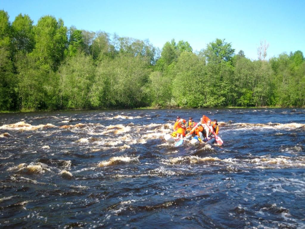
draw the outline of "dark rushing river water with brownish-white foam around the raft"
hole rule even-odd
[[[217,118],[223,146],[165,142]],[[305,110],[0,114],[0,227],[305,228]]]

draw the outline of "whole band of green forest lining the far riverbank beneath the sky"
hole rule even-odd
[[[173,35],[174,36],[174,35]],[[0,111],[113,108],[305,107],[299,50],[258,60],[215,38],[194,52],[67,28],[62,19],[0,11]]]

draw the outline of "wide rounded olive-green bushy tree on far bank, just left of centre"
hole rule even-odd
[[[147,106],[145,85],[149,77],[149,64],[140,56],[120,54],[114,60],[99,66],[99,78],[104,83],[104,101],[107,107]]]

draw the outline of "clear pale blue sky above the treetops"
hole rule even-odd
[[[297,50],[305,56],[305,0],[0,0],[0,9],[11,22],[19,13],[34,24],[52,15],[68,28],[149,39],[160,49],[174,38],[199,51],[220,38],[252,60],[261,41],[269,44],[267,59]]]

